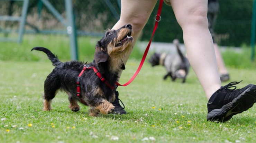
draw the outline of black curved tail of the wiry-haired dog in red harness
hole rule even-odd
[[[44,47],[34,47],[33,49],[31,49],[31,51],[33,51],[33,50],[44,52],[48,56],[48,59],[51,60],[51,62],[53,63],[53,66],[57,66],[57,65],[62,64],[62,62],[58,59],[58,56],[54,55],[47,48],[44,48]]]

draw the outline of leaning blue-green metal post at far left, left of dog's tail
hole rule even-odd
[[[26,24],[26,19],[27,19],[28,2],[29,2],[29,0],[24,0],[23,6],[22,6],[21,21],[20,21],[20,27],[19,27],[19,38],[18,38],[19,43],[21,43],[21,41],[22,41],[22,35],[23,35],[24,29],[25,29],[25,24]]]

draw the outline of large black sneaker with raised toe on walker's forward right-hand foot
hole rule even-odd
[[[241,81],[240,81],[241,82]],[[207,120],[225,122],[232,116],[248,110],[256,102],[256,85],[236,89],[240,82],[232,82],[214,92],[208,101]],[[230,89],[234,87],[234,89]]]

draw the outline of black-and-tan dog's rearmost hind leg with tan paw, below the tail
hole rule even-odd
[[[51,110],[51,102],[55,97],[57,90],[60,89],[61,84],[55,74],[51,73],[47,76],[44,83],[44,111]]]

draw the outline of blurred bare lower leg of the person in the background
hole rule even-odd
[[[225,66],[225,63],[222,59],[222,55],[219,51],[219,46],[218,44],[214,43],[214,50],[215,50],[215,54],[216,54],[216,59],[217,59],[217,65],[218,65],[218,68],[219,68],[219,73],[221,75],[225,75],[228,73],[228,70]]]

